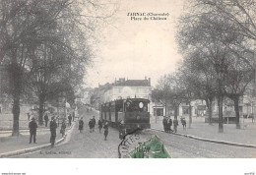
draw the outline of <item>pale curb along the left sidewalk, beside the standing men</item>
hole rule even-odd
[[[75,124],[71,125],[71,127],[67,128],[67,130],[71,130],[71,128],[75,126]],[[48,130],[48,129],[46,129]],[[67,134],[59,139],[58,141],[55,142],[55,145],[59,145],[60,143],[62,143],[67,137]],[[39,150],[39,149],[42,149],[42,148],[46,148],[46,147],[49,147],[51,146],[51,144],[46,144],[46,145],[42,145],[42,146],[34,146],[34,147],[28,147],[28,148],[24,148],[24,149],[20,149],[20,150],[14,150],[14,151],[10,151],[10,152],[5,152],[5,153],[0,153],[0,158],[7,158],[7,157],[12,157],[12,156],[16,156],[16,155],[21,155],[21,154],[24,154],[24,153],[28,153],[28,152],[32,152],[32,151],[35,151],[35,150]]]

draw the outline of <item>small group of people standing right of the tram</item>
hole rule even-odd
[[[183,126],[183,130],[186,128],[186,119],[185,118],[180,118],[181,124]],[[163,117],[162,119],[162,125],[163,125],[163,130],[165,133],[170,133],[173,132],[173,130],[171,129],[173,124],[173,130],[174,133],[177,133],[177,127],[178,127],[178,120],[177,119],[173,119],[173,122],[169,117]]]

